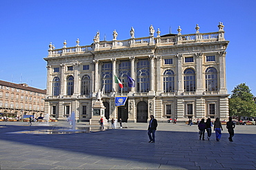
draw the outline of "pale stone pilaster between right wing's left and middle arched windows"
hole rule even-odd
[[[183,54],[176,54],[177,57],[177,67],[176,67],[176,95],[181,95],[184,92],[183,89],[183,78],[182,78],[182,59]]]

